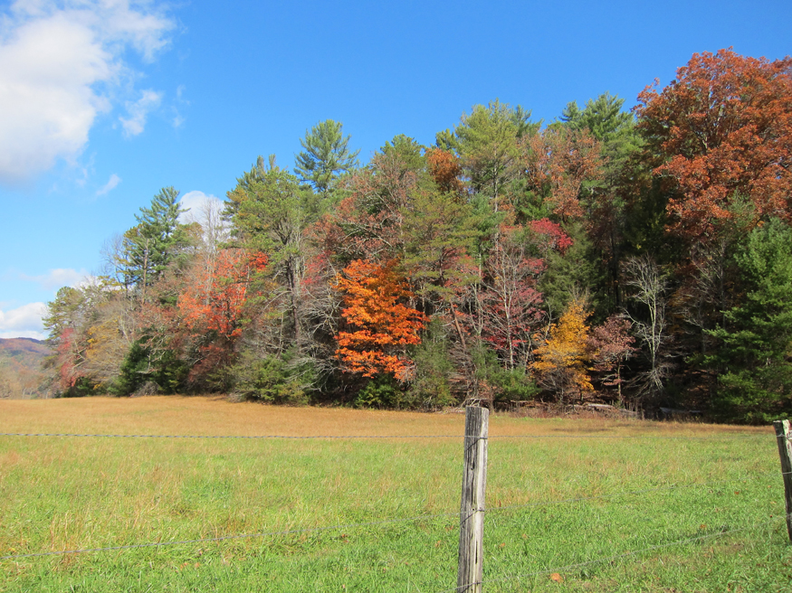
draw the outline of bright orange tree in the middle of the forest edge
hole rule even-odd
[[[346,330],[335,336],[344,369],[364,377],[389,372],[405,379],[412,367],[406,346],[421,343],[425,317],[405,304],[414,295],[397,272],[396,260],[379,265],[355,259],[336,279],[336,288],[344,293]]]

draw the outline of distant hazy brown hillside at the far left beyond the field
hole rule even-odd
[[[46,391],[42,363],[52,353],[31,338],[0,338],[0,398],[39,397]]]

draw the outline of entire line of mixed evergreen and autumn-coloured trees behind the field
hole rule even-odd
[[[48,306],[52,390],[792,411],[792,59],[694,54],[547,126],[495,100],[365,165],[349,139],[320,122],[200,222],[140,208]]]

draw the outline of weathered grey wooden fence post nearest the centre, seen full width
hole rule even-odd
[[[484,491],[487,485],[487,436],[490,410],[465,408],[464,471],[459,514],[459,593],[481,593],[483,576]]]

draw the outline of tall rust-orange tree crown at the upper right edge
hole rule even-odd
[[[638,127],[663,160],[654,173],[678,185],[667,207],[673,231],[711,236],[733,217],[735,196],[748,198],[749,222],[762,215],[789,220],[792,58],[696,53],[676,80],[661,92],[647,87],[638,100]]]

